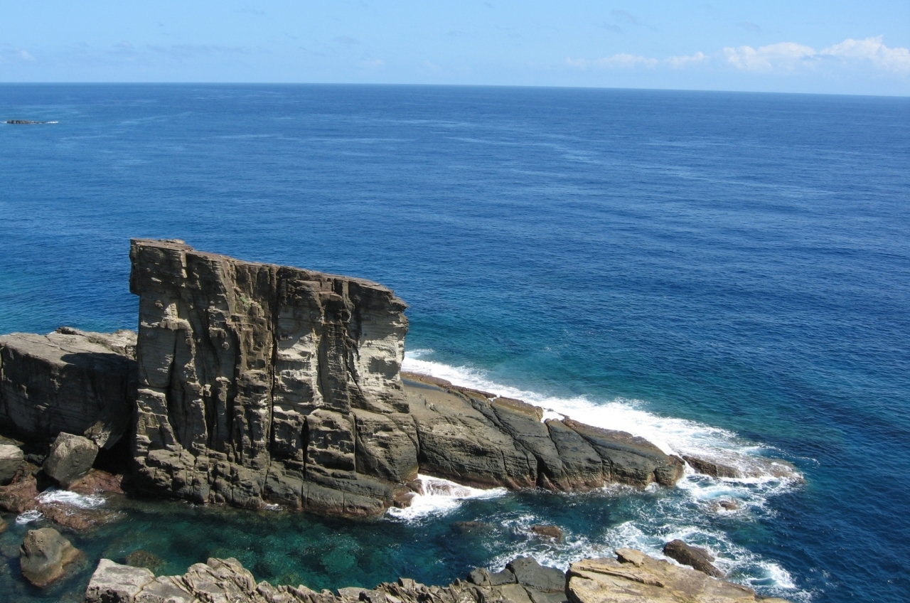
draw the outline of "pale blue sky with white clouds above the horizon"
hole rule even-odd
[[[0,82],[910,96],[910,0],[0,0]]]

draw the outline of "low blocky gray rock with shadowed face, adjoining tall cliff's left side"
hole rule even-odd
[[[135,347],[130,331],[0,336],[0,425],[37,441],[85,434],[110,448],[132,419]]]

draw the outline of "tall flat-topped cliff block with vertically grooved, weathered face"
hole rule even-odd
[[[180,241],[134,240],[130,258],[141,485],[369,514],[416,475],[416,458],[357,463],[358,428],[361,449],[381,448],[389,416],[407,410],[406,306],[391,291]]]

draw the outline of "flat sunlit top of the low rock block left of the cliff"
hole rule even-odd
[[[114,355],[132,358],[136,350],[136,333],[117,331],[113,333],[77,331],[61,327],[55,332],[39,335],[30,332],[14,332],[0,335],[0,347],[9,347],[18,353],[41,358],[48,363],[65,365],[79,360],[72,354],[97,354],[92,360],[116,361]]]

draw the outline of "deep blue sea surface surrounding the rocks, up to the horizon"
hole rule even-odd
[[[3,85],[0,119],[56,122],[0,124],[0,332],[135,329],[129,239],[183,239],[388,285],[409,370],[804,477],[465,491],[370,521],[86,497],[120,519],[70,535],[86,557],[46,591],[17,549],[44,520],[5,516],[8,600],[79,600],[138,548],[319,589],[675,537],[763,595],[910,600],[910,99]]]

